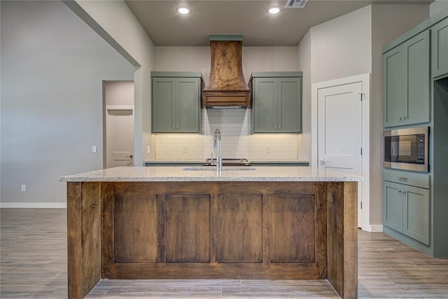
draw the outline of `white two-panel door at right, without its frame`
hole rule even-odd
[[[362,176],[363,85],[318,89],[318,167]],[[358,226],[362,227],[362,183],[358,184]]]

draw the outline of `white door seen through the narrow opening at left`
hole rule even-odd
[[[106,167],[134,165],[134,108],[106,107]]]

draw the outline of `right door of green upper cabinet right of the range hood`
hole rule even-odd
[[[278,131],[298,133],[302,125],[302,78],[278,78]]]

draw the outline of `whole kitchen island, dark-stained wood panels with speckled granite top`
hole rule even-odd
[[[63,176],[69,298],[100,279],[328,279],[356,298],[362,179],[313,167]]]

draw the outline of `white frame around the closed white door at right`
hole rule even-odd
[[[361,172],[364,181],[360,182],[362,188],[363,208],[361,214],[361,228],[372,232],[370,225],[370,73],[338,78],[311,84],[311,167],[318,167],[318,90],[337,85],[360,82],[363,86],[362,97],[362,125],[361,144],[363,148]]]

